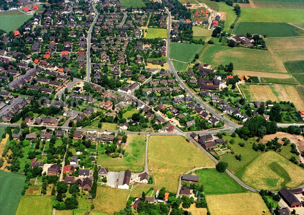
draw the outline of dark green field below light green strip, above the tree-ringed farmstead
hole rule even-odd
[[[302,36],[302,30],[287,23],[267,22],[238,22],[234,27],[233,34],[258,33],[266,37],[296,37]]]

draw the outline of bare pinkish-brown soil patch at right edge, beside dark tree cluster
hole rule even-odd
[[[267,143],[267,141],[275,139],[275,137],[279,138],[279,142],[282,143],[281,139],[283,137],[286,137],[287,139],[290,139],[292,143],[295,143],[300,151],[304,150],[304,138],[300,135],[294,135],[294,134],[288,134],[285,132],[276,132],[275,134],[268,134],[265,135],[261,140],[260,143]]]

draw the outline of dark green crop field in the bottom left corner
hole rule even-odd
[[[24,184],[24,175],[0,170],[0,214],[16,214]]]

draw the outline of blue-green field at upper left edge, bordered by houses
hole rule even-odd
[[[12,14],[12,12],[14,14]],[[23,23],[25,23],[29,18],[31,18],[33,15],[25,15],[24,13],[19,12],[18,15],[16,15],[17,12],[1,12],[0,16],[0,29],[10,32],[13,30],[17,30]],[[21,14],[20,14],[21,13]]]

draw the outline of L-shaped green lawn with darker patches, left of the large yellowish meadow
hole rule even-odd
[[[98,150],[104,151],[105,147],[98,146]],[[97,164],[102,167],[109,168],[110,171],[125,171],[129,169],[131,172],[143,171],[146,141],[144,135],[128,135],[125,154],[122,158],[111,158],[106,154],[99,153]]]

